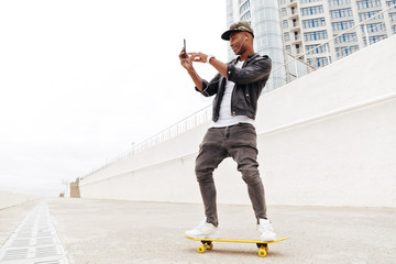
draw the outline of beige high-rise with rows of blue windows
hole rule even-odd
[[[312,50],[301,61],[322,67],[366,45],[396,34],[396,9],[355,28],[321,47],[341,32],[380,13],[396,0],[278,0],[285,56]]]

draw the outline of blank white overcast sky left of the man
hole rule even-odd
[[[178,53],[226,62],[226,0],[0,1],[0,189],[58,195],[208,106]]]

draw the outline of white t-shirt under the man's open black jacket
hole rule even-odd
[[[238,62],[235,67],[242,68],[243,62]],[[232,116],[231,113],[231,96],[235,82],[227,80],[224,96],[220,103],[219,120],[211,123],[211,128],[224,128],[238,123],[251,123],[254,125],[254,120],[246,116]]]

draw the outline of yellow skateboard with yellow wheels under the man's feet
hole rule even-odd
[[[185,235],[189,240],[194,241],[200,241],[202,245],[197,248],[198,253],[205,253],[206,250],[212,250],[213,243],[212,242],[234,242],[234,243],[252,243],[256,244],[258,248],[258,256],[266,256],[268,253],[268,244],[277,243],[284,240],[287,240],[288,238],[283,238],[274,241],[258,241],[258,240],[233,240],[233,239],[193,239],[187,235]]]

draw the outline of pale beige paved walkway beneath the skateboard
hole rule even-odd
[[[0,210],[0,244],[38,202]],[[270,207],[279,237],[268,255],[254,244],[199,242],[183,237],[202,219],[202,206],[50,199],[53,223],[70,263],[396,263],[396,209]],[[221,237],[256,237],[249,206],[219,206]]]

